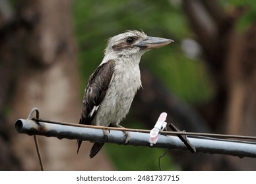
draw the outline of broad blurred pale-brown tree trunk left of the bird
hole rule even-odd
[[[79,122],[82,100],[71,1],[22,1],[18,12],[22,21],[13,33],[18,39],[10,43],[19,52],[10,59],[18,66],[8,116],[9,144],[19,169],[40,170],[33,137],[16,133],[14,122],[35,106],[41,118]],[[104,152],[98,159],[88,158],[90,143],[77,154],[74,140],[38,136],[38,141],[46,170],[113,170]]]

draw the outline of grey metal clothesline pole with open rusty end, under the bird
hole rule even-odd
[[[125,136],[123,131],[110,130],[108,139],[104,137],[102,129],[77,127],[34,120],[19,119],[15,123],[18,133],[28,135],[44,135],[59,139],[79,139],[82,141],[107,142],[123,144]],[[149,133],[129,131],[130,139],[127,145],[150,147]],[[256,144],[253,142],[240,142],[225,139],[212,139],[210,137],[187,137],[197,152],[211,154],[228,154],[232,156],[256,158]],[[152,147],[166,148],[170,150],[188,150],[177,136],[159,135],[158,141]]]

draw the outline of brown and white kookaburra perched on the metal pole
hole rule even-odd
[[[141,56],[150,49],[171,42],[171,39],[150,37],[136,30],[108,39],[104,58],[86,84],[79,124],[121,127],[119,124],[141,87]],[[127,133],[125,136],[128,137]],[[82,141],[77,141],[77,152],[81,143]],[[94,143],[90,158],[103,145],[104,143]]]

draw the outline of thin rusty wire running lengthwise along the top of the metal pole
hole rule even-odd
[[[46,122],[49,124],[59,124],[63,126],[75,126],[75,127],[88,127],[94,129],[109,129],[109,130],[119,130],[119,131],[133,131],[141,133],[150,133],[148,129],[131,129],[131,128],[122,128],[122,127],[104,127],[104,126],[92,126],[84,124],[71,124],[66,122],[54,122],[50,120],[44,120],[39,118],[32,118],[32,120],[37,122]],[[208,137],[222,137],[222,138],[233,138],[233,139],[253,139],[256,140],[256,137],[245,136],[245,135],[227,135],[227,134],[216,134],[216,133],[196,133],[196,132],[187,132],[187,131],[160,131],[164,135],[193,135],[193,136],[208,136]]]

